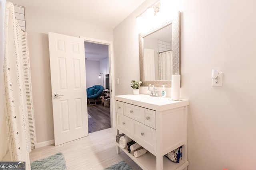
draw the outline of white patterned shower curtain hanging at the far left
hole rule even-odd
[[[27,34],[15,19],[14,6],[5,9],[4,87],[5,113],[12,161],[26,161],[36,144]]]

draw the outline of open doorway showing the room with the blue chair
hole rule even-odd
[[[96,42],[84,42],[86,64],[86,88],[101,88],[94,99],[88,98],[88,132],[111,127],[109,47]],[[95,96],[94,95],[94,96]]]

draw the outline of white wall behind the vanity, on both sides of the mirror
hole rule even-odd
[[[255,170],[256,1],[180,2],[188,170]],[[139,80],[136,16],[153,3],[147,0],[114,29],[116,95],[131,94],[130,80]],[[222,87],[211,86],[212,69],[224,72]]]

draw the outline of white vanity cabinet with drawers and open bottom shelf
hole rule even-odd
[[[143,170],[183,170],[188,162],[188,100],[172,101],[149,95],[115,96],[117,134],[124,133],[148,152],[138,158],[117,143]],[[164,155],[182,146],[174,163]]]

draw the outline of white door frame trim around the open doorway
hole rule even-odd
[[[111,127],[116,127],[116,114],[115,114],[115,76],[114,76],[114,48],[113,48],[113,42],[112,41],[106,41],[103,39],[95,39],[90,37],[83,37],[80,36],[80,38],[84,39],[84,41],[92,42],[92,43],[98,43],[98,44],[104,44],[108,45],[108,55],[109,55],[109,68],[110,68],[110,117],[111,117]]]

